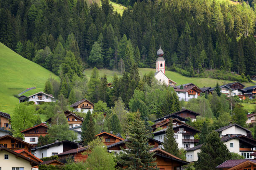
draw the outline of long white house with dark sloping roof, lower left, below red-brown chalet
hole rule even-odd
[[[78,143],[74,143],[69,140],[63,140],[59,142],[56,140],[55,143],[51,143],[49,145],[40,146],[37,148],[32,148],[31,153],[35,155],[37,158],[45,158],[54,155],[58,155],[59,153],[66,152],[67,150],[76,149]]]

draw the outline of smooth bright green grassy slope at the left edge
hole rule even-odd
[[[44,67],[21,57],[8,47],[0,43],[0,111],[12,114],[13,108],[19,100],[13,95],[36,87],[36,91],[44,89],[44,83],[53,77],[54,73]]]

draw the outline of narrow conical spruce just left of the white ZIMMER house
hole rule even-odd
[[[179,155],[179,148],[176,139],[174,138],[174,130],[172,127],[172,120],[169,121],[168,128],[166,130],[166,134],[164,136],[164,150],[174,156]]]

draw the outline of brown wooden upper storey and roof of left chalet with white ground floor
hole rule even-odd
[[[41,123],[31,128],[22,130],[21,133],[23,133],[25,137],[37,136],[39,138],[39,136],[47,135],[48,134],[47,130],[48,130],[48,126],[44,123]]]

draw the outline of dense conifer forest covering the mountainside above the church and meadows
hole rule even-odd
[[[100,7],[88,7],[85,0],[1,0],[0,41],[58,75],[69,50],[84,68],[122,70],[125,65],[127,71],[133,62],[154,67],[159,44],[168,67],[254,75],[255,9],[250,3],[147,0],[120,16],[108,0]]]

